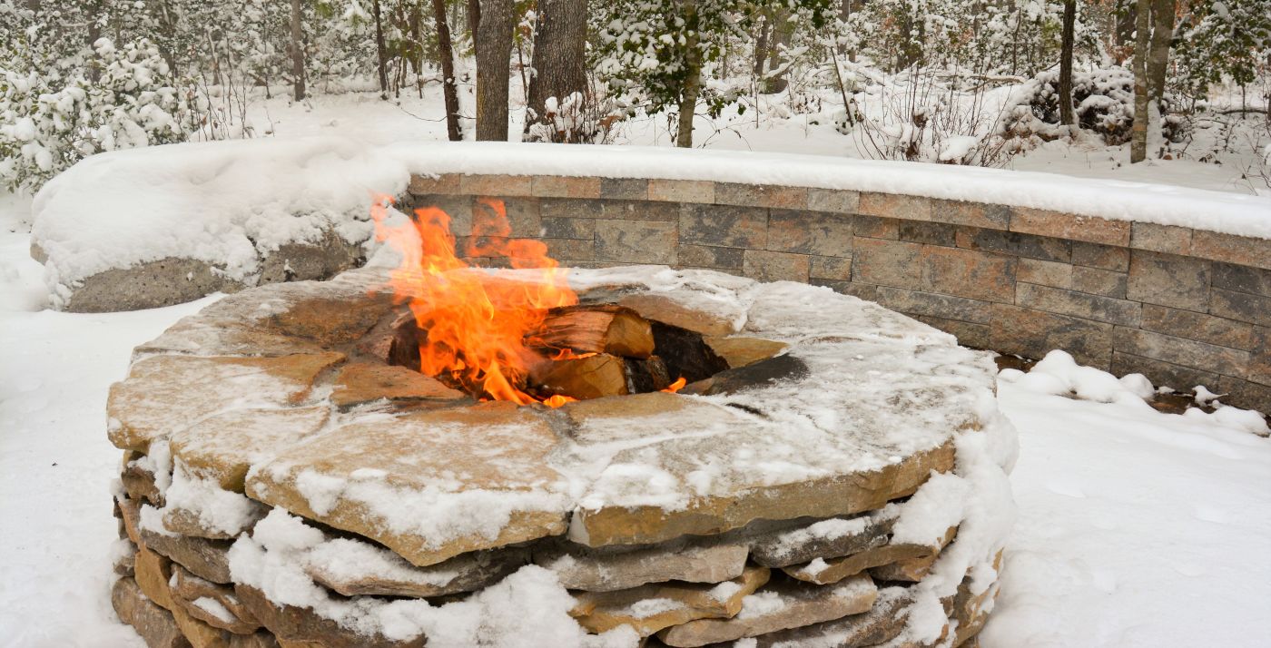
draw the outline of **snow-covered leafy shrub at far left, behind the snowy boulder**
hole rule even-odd
[[[203,118],[192,90],[172,79],[146,39],[116,48],[100,38],[85,64],[0,65],[0,182],[8,188],[34,192],[95,152],[184,141]]]

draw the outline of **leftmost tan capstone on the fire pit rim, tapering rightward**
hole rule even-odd
[[[297,405],[309,395],[318,374],[342,360],[343,353],[140,360],[128,370],[128,380],[111,385],[111,442],[145,451],[150,441],[183,429],[231,400],[241,405]],[[201,386],[198,398],[191,398],[189,385]]]

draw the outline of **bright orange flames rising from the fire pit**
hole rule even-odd
[[[502,201],[478,198],[466,257],[503,258],[517,269],[533,269],[525,281],[497,280],[455,254],[450,216],[436,207],[416,210],[402,225],[386,219],[393,198],[377,196],[371,206],[375,239],[402,253],[389,274],[389,287],[408,302],[419,330],[419,371],[449,376],[469,393],[525,405],[539,402],[522,391],[529,367],[544,357],[525,346],[525,334],[543,324],[548,309],[569,306],[578,296],[566,273],[548,257],[547,245],[512,239]],[[520,277],[519,277],[520,278]],[[553,396],[561,407],[568,396]]]

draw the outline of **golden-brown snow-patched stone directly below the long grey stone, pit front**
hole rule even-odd
[[[735,616],[741,611],[742,600],[768,582],[769,570],[747,567],[731,579],[728,596],[712,593],[713,584],[665,583],[644,584],[615,592],[582,592],[574,596],[577,604],[569,614],[592,633],[604,633],[629,625],[641,637],[648,637],[663,628],[680,625],[694,619]],[[661,605],[666,600],[666,605]],[[649,606],[648,614],[639,604]],[[633,606],[636,606],[633,609]],[[655,611],[656,610],[656,611]]]

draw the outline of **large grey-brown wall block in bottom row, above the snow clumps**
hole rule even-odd
[[[1106,371],[1112,362],[1112,329],[1103,321],[994,304],[989,348],[1031,358],[1061,348],[1078,362]]]

